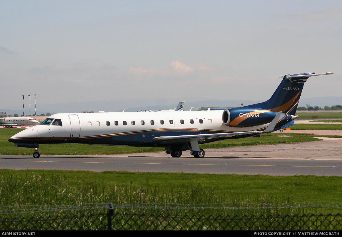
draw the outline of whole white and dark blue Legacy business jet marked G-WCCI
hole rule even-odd
[[[285,75],[272,97],[235,109],[54,114],[39,125],[9,139],[17,147],[82,143],[107,146],[165,147],[172,157],[182,151],[203,158],[199,144],[225,139],[258,137],[294,124],[306,79],[335,73]]]

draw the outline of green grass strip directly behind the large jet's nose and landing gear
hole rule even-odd
[[[0,129],[0,154],[4,155],[32,155],[32,148],[14,147],[8,138],[20,132],[22,129]],[[283,135],[283,134],[281,134]],[[279,142],[280,140],[280,142]],[[251,146],[264,144],[292,143],[301,141],[317,141],[319,139],[312,137],[300,138],[279,138],[275,136],[261,136],[260,138],[244,138],[244,139],[228,139],[209,144],[201,145],[201,148],[218,148],[232,146]],[[39,151],[42,155],[111,155],[111,154],[127,154],[139,152],[164,151],[164,148],[149,147],[121,147],[121,146],[96,146],[85,144],[42,144],[39,145]]]

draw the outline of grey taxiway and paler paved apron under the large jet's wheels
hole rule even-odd
[[[297,130],[298,131],[298,130]],[[293,131],[292,131],[293,132]],[[339,131],[341,133],[341,131]],[[212,174],[342,176],[342,139],[294,144],[206,149],[206,158],[183,152],[99,156],[0,155],[3,169],[183,172]]]

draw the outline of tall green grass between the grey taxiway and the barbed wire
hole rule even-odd
[[[84,203],[264,204],[341,202],[342,177],[0,170],[1,206]],[[229,204],[231,203],[231,204]],[[248,204],[254,203],[254,204]],[[257,204],[259,203],[259,204]],[[215,205],[215,204],[212,204]],[[297,205],[297,204],[296,204]],[[276,206],[276,205],[275,205]],[[23,208],[23,206],[21,206]],[[139,211],[139,210],[135,210]],[[169,210],[176,212],[177,210]],[[337,213],[341,208],[181,210],[203,214]],[[146,210],[144,210],[146,212]],[[147,211],[148,212],[148,211]],[[179,212],[177,212],[179,213]]]

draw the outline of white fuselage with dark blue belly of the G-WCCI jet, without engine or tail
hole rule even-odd
[[[284,120],[287,116],[282,114],[278,121]],[[165,147],[168,145],[155,144],[153,138],[258,131],[265,129],[269,124],[244,128],[229,127],[222,122],[222,111],[64,113],[54,114],[49,118],[50,124],[39,124],[26,129],[9,140],[35,144],[75,142]],[[57,120],[60,120],[61,124],[53,125]]]

